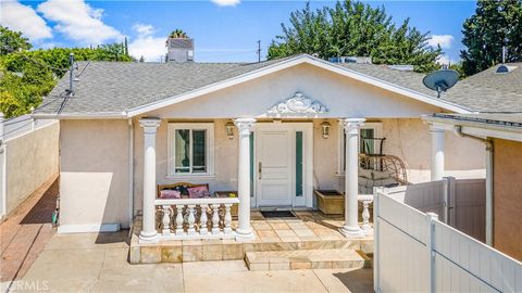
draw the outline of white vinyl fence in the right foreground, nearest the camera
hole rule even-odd
[[[375,189],[375,292],[522,292],[522,263]]]

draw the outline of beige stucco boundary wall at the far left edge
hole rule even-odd
[[[1,219],[59,173],[60,123],[8,138],[0,146]]]

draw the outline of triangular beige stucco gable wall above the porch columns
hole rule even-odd
[[[147,113],[164,118],[266,117],[274,104],[300,91],[320,101],[318,117],[411,117],[439,107],[312,65],[297,65]]]

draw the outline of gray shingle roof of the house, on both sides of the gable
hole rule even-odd
[[[122,114],[128,109],[186,93],[293,58],[296,56],[261,63],[79,62],[79,69],[85,69],[79,81],[75,82],[75,95],[63,98],[69,87],[66,74],[36,113]],[[386,65],[337,65],[437,99],[434,91],[423,86],[423,74],[390,69]],[[489,69],[470,77],[444,93],[443,100],[475,111],[522,112],[521,67],[519,65],[519,68],[504,76],[495,75]],[[494,76],[494,81],[488,78],[490,75]],[[508,78],[502,79],[505,77]],[[480,90],[478,86],[484,90]]]

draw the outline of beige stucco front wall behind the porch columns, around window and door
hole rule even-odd
[[[190,181],[209,183],[211,192],[216,190],[236,190],[237,188],[237,136],[229,140],[226,137],[225,124],[229,119],[192,120],[214,122],[214,178],[169,179],[167,178],[167,124],[169,122],[187,123],[188,120],[163,119],[157,135],[157,181],[174,183]],[[326,119],[332,125],[331,136],[323,139],[321,123],[325,119],[313,119],[313,186],[318,189],[344,190],[344,177],[337,175],[338,166],[338,123]],[[420,118],[371,118],[381,122],[383,136],[386,137],[384,153],[400,157],[408,168],[412,182],[430,180],[430,128]],[[142,199],[142,128],[135,120],[135,206],[141,208]],[[236,130],[235,130],[236,131]],[[237,131],[236,131],[237,135]],[[467,155],[462,155],[465,153]],[[482,143],[470,139],[446,133],[446,175],[458,178],[473,178],[483,173],[485,152]],[[478,171],[477,171],[478,170]]]

